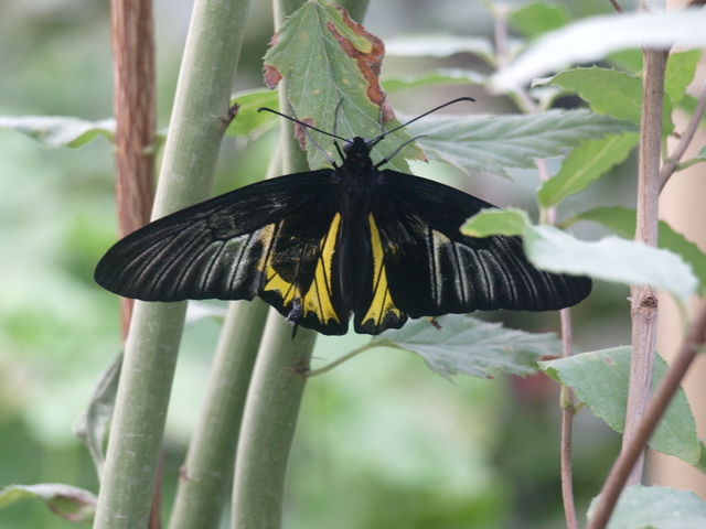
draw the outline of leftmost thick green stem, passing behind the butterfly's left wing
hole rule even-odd
[[[247,8],[247,0],[194,6],[153,218],[210,194]],[[95,528],[147,527],[185,307],[136,303]]]

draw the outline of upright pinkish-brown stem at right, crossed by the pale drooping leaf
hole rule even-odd
[[[642,83],[635,240],[653,247],[657,244],[662,108],[667,55],[668,52],[662,50],[643,51],[644,78]],[[630,443],[633,431],[650,400],[657,323],[656,292],[651,287],[640,285],[632,287],[630,294],[632,354],[623,446]],[[642,463],[643,460],[640,458],[628,485],[641,482]]]

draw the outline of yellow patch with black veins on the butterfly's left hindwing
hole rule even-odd
[[[282,304],[288,305],[295,301],[302,304],[303,314],[314,313],[317,319],[325,324],[329,320],[341,323],[339,315],[335,313],[332,295],[332,263],[333,253],[335,252],[335,240],[341,224],[341,215],[335,214],[331,222],[329,233],[321,239],[319,245],[319,258],[317,259],[317,268],[314,270],[313,281],[309,290],[302,295],[301,285],[290,283],[282,279],[271,266],[271,253],[266,250],[263,258],[258,262],[257,268],[265,272],[266,283],[263,290],[277,291],[282,296]],[[275,225],[267,226],[264,230],[268,230],[263,235],[266,239],[271,239]],[[268,237],[269,236],[269,237]]]

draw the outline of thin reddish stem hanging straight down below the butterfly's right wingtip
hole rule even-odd
[[[561,356],[567,358],[573,354],[571,310],[561,309]],[[574,424],[574,393],[565,387],[561,402],[561,499],[564,500],[564,516],[567,529],[578,529],[576,505],[574,503],[574,477],[571,473],[571,430]]]

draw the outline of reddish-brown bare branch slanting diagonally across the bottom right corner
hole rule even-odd
[[[644,447],[664,414],[674,393],[692,365],[698,349],[706,343],[706,299],[702,300],[696,316],[689,324],[686,336],[672,366],[660,382],[654,397],[645,409],[640,424],[634,431],[630,443],[623,445],[623,450],[613,464],[613,467],[603,484],[593,516],[586,529],[603,529],[610,515],[618,503],[623,485],[633,468],[635,462],[643,453]]]

